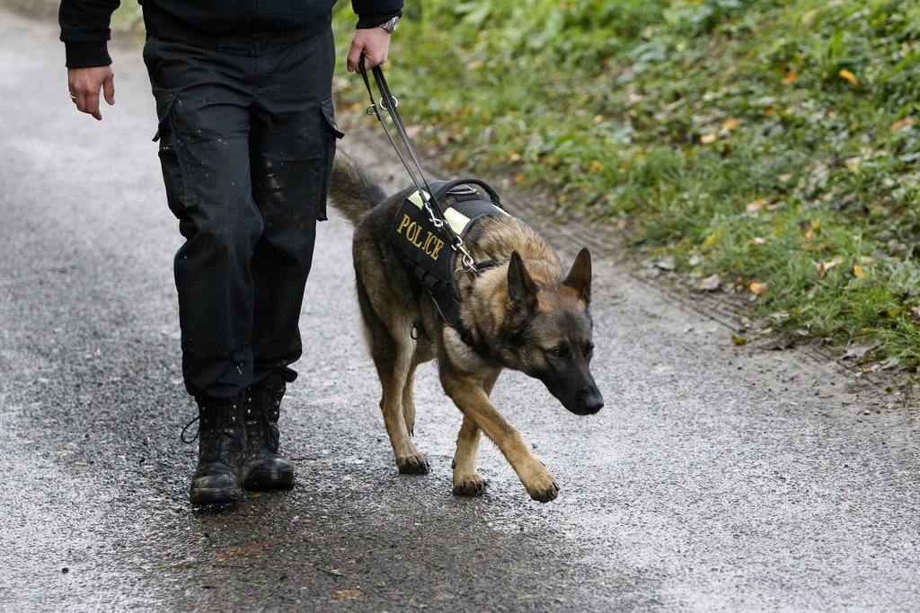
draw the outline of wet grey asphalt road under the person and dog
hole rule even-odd
[[[916,408],[878,410],[833,364],[733,346],[599,256],[597,228],[546,234],[567,264],[595,249],[603,411],[568,414],[518,373],[493,396],[558,500],[531,501],[489,444],[488,494],[451,495],[460,415],[431,367],[416,438],[432,471],[397,474],[335,217],[282,414],[296,487],[192,509],[180,237],[140,52],[115,54],[98,123],[68,99],[56,36],[0,17],[0,610],[920,608]],[[342,146],[403,187],[361,134]]]

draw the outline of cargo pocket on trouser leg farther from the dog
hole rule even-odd
[[[155,93],[157,128],[154,141],[160,143],[160,167],[167,192],[167,205],[176,217],[195,206],[188,179],[188,159],[175,130],[173,108],[177,104],[178,89],[164,89]]]

